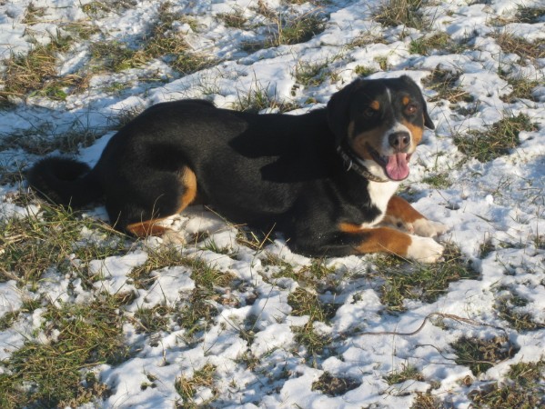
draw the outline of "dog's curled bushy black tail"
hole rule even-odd
[[[83,162],[64,157],[48,157],[28,172],[28,184],[46,200],[57,205],[79,207],[103,195],[91,168]]]

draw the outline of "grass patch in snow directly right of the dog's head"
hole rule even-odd
[[[537,126],[525,114],[506,115],[499,122],[489,125],[485,131],[469,131],[467,136],[457,135],[454,144],[462,154],[474,157],[479,162],[489,162],[520,145],[522,131],[535,131]]]

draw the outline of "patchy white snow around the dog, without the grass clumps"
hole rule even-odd
[[[40,157],[22,145],[1,143],[13,135],[55,138],[69,131],[92,130],[102,136],[76,155],[93,164],[114,134],[112,118],[159,102],[198,97],[233,108],[244,95],[262,93],[292,104],[296,109],[289,114],[298,115],[324,106],[330,95],[363,68],[374,72],[372,78],[407,74],[422,85],[436,130],[426,132],[412,161],[409,181],[403,184],[403,194],[421,213],[449,225],[449,232],[439,240],[459,248],[476,272],[476,278],[450,283],[435,301],[421,301],[418,296],[406,299],[404,308],[394,314],[381,298],[384,279],[377,274],[380,258],[328,259],[324,264],[331,267],[331,273],[322,279],[304,274],[278,275],[281,267],[271,265],[271,258],[291,264],[296,272],[313,260],[291,254],[281,237],[264,242],[260,249],[241,244],[235,227],[196,206],[171,222],[187,237],[201,232],[207,239],[179,251],[231,274],[232,283],[237,284],[218,290],[222,300],[210,301],[217,315],[204,330],[192,335],[191,342],[187,341],[187,329],[174,322],[156,334],[141,334],[132,321],[126,321],[126,344],[135,352],[122,364],[91,368],[111,391],[105,400],[96,401],[98,407],[183,407],[175,387],[177,379],[190,378],[211,364],[216,368],[213,384],[197,388],[193,397],[196,404],[403,408],[426,395],[436,403],[462,408],[471,403],[470,391],[504,380],[511,365],[543,359],[545,17],[541,15],[530,23],[516,22],[515,18],[518,7],[543,10],[542,2],[429,3],[422,8],[429,24],[426,30],[418,30],[379,24],[374,18],[379,1],[175,0],[171,2],[172,11],[188,18],[175,21],[168,35],[183,36],[190,53],[215,59],[212,65],[189,75],[180,75],[161,58],[116,73],[88,68],[93,42],[116,41],[134,49],[141,45],[157,19],[160,1],[35,0],[32,5],[45,7],[35,17],[37,23],[25,19],[30,3],[0,1],[0,58],[27,53],[35,47],[29,41],[31,36],[35,42],[47,44],[52,35],[68,35],[70,22],[86,21],[96,31],[88,39],[77,37],[58,55],[56,75],[82,76],[85,72],[89,82],[81,92],[66,92],[66,98],[38,94],[24,101],[15,95],[11,99],[15,106],[0,108],[0,145],[4,149],[0,165],[6,174]],[[102,7],[91,13],[91,5]],[[303,43],[248,50],[248,44],[263,41],[275,29],[278,33],[275,19],[267,19],[264,10],[287,20],[318,14],[325,27]],[[222,14],[244,16],[247,22],[242,28],[229,27]],[[414,53],[412,47],[419,41],[440,33],[447,34],[456,46],[447,51],[447,46],[430,49],[426,55]],[[539,55],[503,50],[498,35],[505,34],[535,45]],[[297,74],[312,65],[323,66],[315,75],[316,81],[302,84]],[[429,82],[436,69],[451,73],[455,82],[450,88],[457,87],[466,97],[452,102],[442,99]],[[508,80],[520,78],[535,82],[530,97],[510,98],[513,86],[519,85]],[[275,109],[273,106],[267,111]],[[456,137],[469,137],[471,132],[485,131],[505,117],[520,114],[536,125],[520,132],[520,145],[507,155],[479,162],[460,152],[454,143]],[[434,185],[431,176],[443,183]],[[24,185],[0,185],[0,217],[25,217],[39,211],[35,205],[25,208],[10,200],[20,189]],[[104,210],[91,209],[87,215],[104,217]],[[90,233],[82,231],[82,236],[86,235]],[[150,239],[146,244],[163,245],[160,239]],[[486,252],[482,251],[484,244]],[[144,264],[147,257],[146,246],[141,245],[126,254],[89,263],[89,274],[103,277],[91,290],[83,289],[76,274],[55,271],[48,271],[32,287],[3,278],[0,318],[19,310],[28,297],[40,298],[45,308],[52,302],[86,303],[101,292],[133,293],[134,301],[124,307],[126,316],[159,304],[173,309],[185,304],[187,294],[195,287],[187,266],[157,270],[152,273],[155,281],[149,288],[137,288],[128,279],[127,274]],[[323,304],[335,308],[328,320],[317,320],[310,326],[311,331],[329,340],[315,354],[309,354],[308,345],[298,337],[298,328],[308,328],[309,319],[308,315],[294,313],[293,295],[301,289],[318,294]],[[519,306],[510,307],[517,314],[527,314],[532,328],[517,327],[501,314],[500,300],[511,295],[523,300]],[[15,323],[0,328],[0,359],[9,360],[25,342],[52,342],[40,330],[43,308],[20,314]],[[412,333],[420,324],[424,325],[414,334],[391,334]],[[493,363],[488,371],[474,375],[468,365],[455,362],[451,345],[462,337],[489,340],[496,336],[504,336],[513,353]],[[389,375],[407,367],[415,368],[420,375],[397,384],[387,382]],[[337,380],[348,379],[355,387],[325,394],[313,387],[325,373]],[[142,387],[149,383],[153,387]]]

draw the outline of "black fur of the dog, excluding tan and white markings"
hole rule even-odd
[[[254,115],[182,100],[138,115],[112,137],[92,170],[72,159],[47,158],[28,181],[63,205],[105,196],[111,222],[125,231],[179,210],[180,171],[187,167],[197,176],[199,202],[228,220],[276,225],[301,254],[354,254],[365,234],[343,233],[338,224],[364,224],[383,209],[371,202],[368,180],[347,172],[336,148],[347,138],[349,121],[386,85],[417,98],[419,117],[412,120],[433,127],[409,77],[358,80],[333,95],[327,108],[305,115]]]

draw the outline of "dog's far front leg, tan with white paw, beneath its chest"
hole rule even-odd
[[[399,196],[392,196],[389,200],[383,223],[424,237],[434,237],[448,230],[445,224],[427,219]]]

